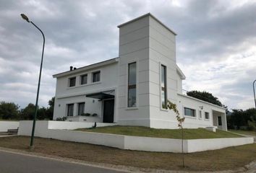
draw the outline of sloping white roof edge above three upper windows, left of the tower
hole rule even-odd
[[[98,63],[93,63],[93,64],[90,64],[88,66],[82,66],[82,67],[76,68],[75,70],[72,70],[72,71],[69,70],[69,71],[64,71],[62,73],[59,73],[59,74],[54,74],[53,77],[57,78],[57,77],[61,77],[61,76],[67,76],[69,74],[79,73],[81,71],[86,71],[86,70],[89,70],[91,68],[97,68],[99,66],[106,66],[108,64],[115,63],[117,61],[119,61],[119,57],[112,58],[112,59],[109,59],[109,60],[106,60],[106,61],[101,61],[101,62],[98,62]]]

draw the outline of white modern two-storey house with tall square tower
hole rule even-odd
[[[152,14],[118,27],[119,57],[54,75],[54,120],[177,128],[174,112],[163,108],[169,99],[185,128],[227,129],[223,107],[182,94],[174,31]]]

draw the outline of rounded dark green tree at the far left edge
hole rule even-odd
[[[19,105],[14,102],[0,102],[0,119],[11,120],[19,119]]]

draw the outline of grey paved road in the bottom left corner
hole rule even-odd
[[[25,156],[0,151],[1,173],[120,173],[111,169],[72,164],[36,156]]]

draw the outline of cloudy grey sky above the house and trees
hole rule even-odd
[[[35,103],[42,36],[46,35],[38,104],[55,95],[53,74],[116,58],[124,22],[150,12],[177,33],[183,89],[212,93],[229,109],[254,107],[256,1],[0,0],[0,101]]]

